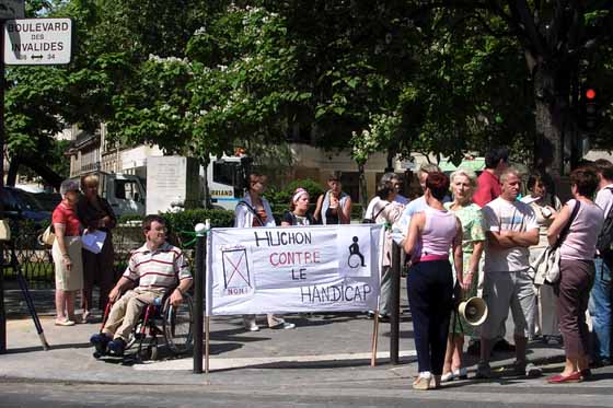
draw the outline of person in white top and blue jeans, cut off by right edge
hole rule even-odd
[[[613,163],[600,159],[595,161],[600,178],[595,203],[604,211],[604,217],[613,209]],[[613,259],[598,253],[594,258],[595,277],[590,291],[589,311],[592,318],[594,345],[592,359],[597,365],[611,364],[612,284]]]

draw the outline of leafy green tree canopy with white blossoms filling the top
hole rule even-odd
[[[599,136],[610,139],[610,8],[595,1],[558,13],[545,2],[525,13],[537,21],[524,22],[505,13],[533,3],[500,4],[28,1],[28,15],[72,18],[78,40],[68,67],[8,69],[7,145],[38,154],[66,124],[92,130],[105,121],[107,142],[155,143],[201,163],[238,145],[264,161],[259,153],[271,150],[263,145],[296,139],[350,148],[358,165],[374,152],[458,161],[509,140],[528,156],[535,101],[575,103],[569,72],[602,84]],[[542,34],[568,26],[577,30]],[[559,80],[545,93],[535,88],[543,69]]]

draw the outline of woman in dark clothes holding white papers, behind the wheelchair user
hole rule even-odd
[[[81,189],[84,196],[77,205],[77,214],[81,223],[85,225],[85,234],[101,231],[106,234],[102,250],[94,254],[83,248],[83,295],[81,307],[83,308],[83,322],[88,322],[93,308],[92,291],[94,282],[100,287],[99,308],[104,311],[108,300],[108,292],[117,281],[113,264],[115,253],[113,249],[113,235],[111,230],[115,228],[117,219],[113,208],[106,199],[97,194],[99,178],[90,174],[81,178]]]

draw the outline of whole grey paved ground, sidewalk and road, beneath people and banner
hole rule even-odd
[[[47,312],[51,293],[42,290],[37,295]],[[16,307],[12,316],[23,316],[24,306],[15,293],[11,296]],[[598,369],[595,381],[574,385],[550,385],[544,377],[528,380],[502,373],[488,382],[469,380],[440,390],[414,392],[410,382],[417,364],[408,314],[403,315],[401,326],[401,364],[388,364],[389,325],[382,324],[375,368],[369,365],[372,320],[366,315],[287,318],[297,324],[296,329],[258,333],[244,331],[239,316],[213,318],[209,375],[193,374],[190,357],[134,365],[97,361],[88,339],[99,325],[58,327],[47,313],[42,320],[53,349],[43,351],[32,322],[11,318],[10,352],[0,355],[0,407],[613,407],[613,368]],[[507,333],[512,333],[511,327],[509,322]],[[543,365],[546,375],[559,372],[563,357],[559,348],[531,345],[530,358]],[[506,366],[512,358],[498,353],[495,366]],[[475,362],[469,358],[471,371]]]

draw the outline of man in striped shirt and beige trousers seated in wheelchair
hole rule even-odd
[[[101,354],[123,355],[130,333],[147,305],[170,293],[170,303],[177,306],[192,285],[193,279],[183,252],[166,242],[165,221],[147,215],[142,221],[146,243],[130,256],[126,271],[108,294],[113,303],[101,333],[90,341]],[[138,287],[122,292],[138,282]],[[120,298],[119,298],[120,296]]]

